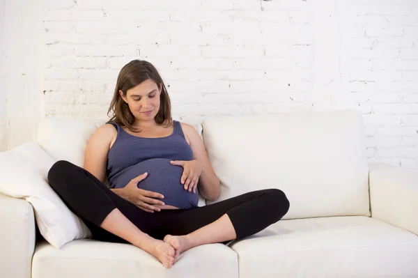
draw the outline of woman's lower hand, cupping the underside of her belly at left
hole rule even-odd
[[[154,211],[160,211],[161,209],[153,205],[164,206],[164,202],[153,198],[163,199],[164,196],[157,192],[141,190],[138,188],[138,183],[141,180],[144,180],[147,175],[148,173],[143,173],[137,176],[137,178],[132,178],[125,187],[116,188],[112,191],[123,199],[134,203],[134,205],[141,208],[141,210],[145,210],[148,213],[154,213]]]

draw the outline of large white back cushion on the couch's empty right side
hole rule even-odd
[[[291,202],[284,219],[369,215],[357,111],[212,116],[203,121],[203,137],[222,183],[217,201],[279,188]]]

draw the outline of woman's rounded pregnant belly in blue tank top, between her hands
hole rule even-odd
[[[180,183],[183,175],[183,167],[170,164],[167,158],[153,158],[144,160],[138,164],[121,171],[115,184],[115,188],[125,187],[127,183],[142,173],[148,173],[144,180],[138,183],[138,188],[157,192],[164,195],[166,205],[176,208],[194,208],[199,202],[199,195],[188,192]]]

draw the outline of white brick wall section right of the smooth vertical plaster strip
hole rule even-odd
[[[371,161],[418,169],[418,1],[339,1],[348,88]]]

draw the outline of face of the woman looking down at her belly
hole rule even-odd
[[[160,88],[152,79],[127,90],[126,96],[119,94],[129,106],[130,111],[138,121],[154,121],[160,110]]]

